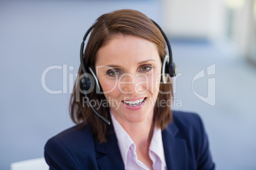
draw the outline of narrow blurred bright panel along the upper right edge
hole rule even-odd
[[[229,7],[228,36],[238,55],[256,64],[256,1],[240,0]]]

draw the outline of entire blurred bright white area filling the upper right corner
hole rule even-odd
[[[163,27],[175,39],[204,39],[256,65],[255,0],[162,0]]]

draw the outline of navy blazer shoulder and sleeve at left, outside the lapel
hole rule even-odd
[[[94,134],[89,124],[66,129],[45,145],[45,160],[52,169],[80,169],[82,164],[93,167],[97,164],[95,157]]]

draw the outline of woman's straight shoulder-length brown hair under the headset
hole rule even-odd
[[[95,65],[99,48],[108,43],[108,41],[110,41],[111,38],[117,34],[136,36],[146,39],[156,44],[161,60],[163,60],[164,56],[166,55],[164,37],[150,18],[143,15],[143,13],[140,13],[139,11],[118,10],[114,11],[113,13],[106,13],[100,16],[97,18],[96,23],[94,23],[93,30],[89,41],[87,42],[87,47],[85,48],[85,53],[83,56],[85,68],[88,68],[89,65]],[[80,124],[82,122],[83,127],[85,124],[87,124],[87,121],[89,121],[92,126],[92,131],[97,135],[98,140],[103,142],[106,141],[106,124],[104,124],[104,122],[101,121],[101,119],[99,119],[96,115],[94,115],[94,112],[88,105],[84,105],[83,103],[84,95],[82,95],[80,92],[79,77],[79,75],[82,74],[83,72],[80,67],[70,100],[69,109],[71,119],[76,124]],[[152,125],[156,125],[157,127],[164,129],[166,128],[168,122],[172,121],[173,117],[170,105],[161,106],[159,105],[159,101],[170,101],[173,97],[173,88],[171,83],[167,83],[160,84],[159,89],[162,92],[169,93],[159,93],[158,100],[155,103]],[[93,89],[88,96],[90,100],[106,101],[104,95],[96,94],[95,89]],[[99,107],[97,112],[100,115],[110,119],[109,107]]]

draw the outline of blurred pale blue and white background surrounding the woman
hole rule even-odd
[[[46,141],[74,125],[68,105],[83,35],[124,8],[169,37],[173,109],[201,115],[217,169],[256,169],[254,0],[1,0],[0,169],[43,157]]]

